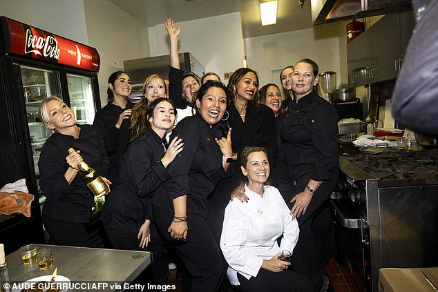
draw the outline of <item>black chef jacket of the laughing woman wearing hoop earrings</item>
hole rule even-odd
[[[169,165],[170,198],[187,195],[187,214],[207,217],[207,196],[232,168],[229,166],[229,172],[225,172],[222,166],[222,152],[215,140],[222,134],[197,114],[182,119],[173,129],[171,140],[177,135],[182,137],[184,150]]]

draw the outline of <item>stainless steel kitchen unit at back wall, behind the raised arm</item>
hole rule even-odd
[[[123,68],[133,84],[143,84],[146,77],[152,74],[162,78],[169,76],[170,55],[148,57],[123,61]],[[199,78],[205,73],[205,68],[190,52],[180,53],[180,68],[184,72],[193,72]]]

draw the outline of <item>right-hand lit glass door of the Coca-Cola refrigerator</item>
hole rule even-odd
[[[96,106],[91,77],[67,73],[67,82],[70,106],[76,116],[76,123],[93,124]]]

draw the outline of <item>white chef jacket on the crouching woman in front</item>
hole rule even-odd
[[[292,253],[300,229],[292,220],[285,200],[274,186],[265,186],[263,197],[249,191],[245,185],[247,203],[238,199],[230,201],[220,236],[220,249],[229,264],[228,278],[233,285],[240,285],[237,273],[249,280],[256,277],[263,260],[287,250]],[[277,238],[283,234],[280,246]]]

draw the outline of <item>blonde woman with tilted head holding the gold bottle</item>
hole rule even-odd
[[[55,130],[44,143],[38,162],[39,186],[46,196],[42,220],[50,244],[91,247],[86,224],[94,195],[78,174],[77,164],[85,160],[102,177],[108,174],[102,133],[95,126],[76,124],[73,111],[59,97],[43,99],[39,117],[46,128]],[[68,148],[76,152],[68,154]]]

